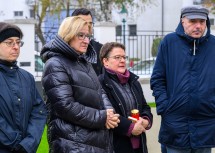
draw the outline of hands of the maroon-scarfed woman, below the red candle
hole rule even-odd
[[[146,132],[146,127],[148,126],[149,121],[139,117],[139,120],[134,125],[133,130],[131,131],[132,135],[140,135],[143,132]]]

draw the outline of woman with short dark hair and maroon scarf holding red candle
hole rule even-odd
[[[138,76],[126,68],[126,59],[125,46],[120,43],[106,43],[101,48],[104,72],[99,80],[116,113],[120,114],[120,123],[113,130],[114,151],[148,153],[145,132],[151,128],[153,116]]]

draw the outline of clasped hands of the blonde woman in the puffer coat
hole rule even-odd
[[[107,129],[113,129],[118,126],[119,120],[119,114],[114,114],[113,109],[107,109],[107,119],[106,119],[106,128]]]

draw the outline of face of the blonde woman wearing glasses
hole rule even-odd
[[[89,39],[89,27],[85,25],[70,42],[69,45],[74,48],[78,53],[86,53]]]

